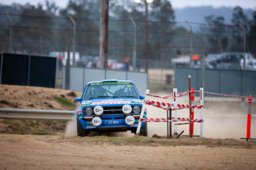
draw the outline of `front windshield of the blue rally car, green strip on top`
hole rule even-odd
[[[110,81],[90,83],[84,94],[84,99],[95,99],[104,97],[136,97],[138,94],[134,85],[130,82]]]

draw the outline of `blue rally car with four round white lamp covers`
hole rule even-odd
[[[76,110],[77,136],[92,131],[136,134],[142,99],[136,86],[127,80],[92,81],[84,87]],[[144,115],[145,118],[146,115]],[[142,122],[140,135],[147,136],[147,124]]]

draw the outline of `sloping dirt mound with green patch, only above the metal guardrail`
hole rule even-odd
[[[0,108],[74,110],[75,97],[82,92],[29,87],[20,85],[0,85]]]

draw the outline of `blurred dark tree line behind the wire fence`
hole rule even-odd
[[[10,20],[13,19],[13,52],[48,55],[49,52],[67,51],[76,21],[76,51],[81,55],[99,55],[100,0],[69,0],[65,8],[54,1],[32,4],[0,4],[1,52],[8,52]],[[193,12],[193,11],[191,11]],[[144,57],[145,4],[133,1],[109,1],[109,58],[120,60],[132,56],[133,25],[137,25],[137,55]],[[184,21],[175,21],[175,11],[168,0],[148,4],[148,53],[150,59],[175,57],[177,50],[189,53],[189,27]],[[191,21],[193,22],[193,21]],[[246,50],[256,53],[256,11],[249,20],[239,6],[233,9],[232,25],[225,25],[223,16],[205,16],[200,31],[193,32],[193,53],[241,52],[243,30],[246,28]],[[193,25],[193,24],[192,24]]]

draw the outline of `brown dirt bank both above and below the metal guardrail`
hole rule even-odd
[[[0,108],[20,108],[35,110],[75,110],[75,97],[82,92],[0,85]],[[67,121],[0,120],[0,133],[9,134],[58,134],[65,132]]]

